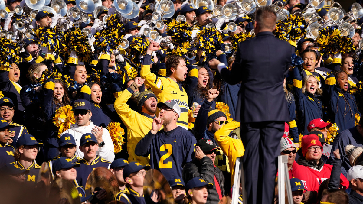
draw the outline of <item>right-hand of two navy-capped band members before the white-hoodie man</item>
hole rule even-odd
[[[96,154],[98,144],[96,136],[92,133],[86,133],[81,137],[81,146],[79,149],[84,153],[83,159],[80,161],[81,166],[77,169],[77,185],[85,187],[87,178],[91,171],[97,167],[106,167],[110,169],[111,162],[101,158]]]

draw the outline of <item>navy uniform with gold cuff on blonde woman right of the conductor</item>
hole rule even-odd
[[[323,117],[322,102],[315,95],[308,91],[302,93],[302,78],[297,67],[293,69],[294,76],[294,92],[296,110],[299,115],[299,132],[303,134],[309,133],[306,129],[310,121]]]

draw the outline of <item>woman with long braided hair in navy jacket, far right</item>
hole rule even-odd
[[[325,80],[324,97],[328,104],[328,115],[332,123],[337,123],[338,132],[355,126],[355,114],[359,114],[355,97],[348,91],[348,75],[343,70],[335,70]]]

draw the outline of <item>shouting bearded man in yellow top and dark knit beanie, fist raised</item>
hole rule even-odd
[[[136,144],[146,135],[152,125],[156,112],[156,95],[152,91],[143,91],[136,96],[136,105],[140,113],[131,110],[127,101],[134,91],[143,84],[143,79],[136,78],[126,90],[120,93],[114,103],[115,110],[127,128],[127,152],[129,162],[139,162],[142,165],[149,164],[150,157],[135,155]]]

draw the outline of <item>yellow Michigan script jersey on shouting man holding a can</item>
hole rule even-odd
[[[176,122],[176,125],[184,127],[185,130],[188,129],[189,115],[192,111],[188,106],[188,95],[185,92],[181,83],[176,83],[171,78],[157,77],[150,71],[151,55],[146,54],[144,57],[143,65],[141,65],[141,78],[145,79],[146,86],[151,87],[151,90],[158,97],[158,101],[175,100],[178,101],[180,106],[180,117]],[[190,117],[191,119],[194,119]]]

